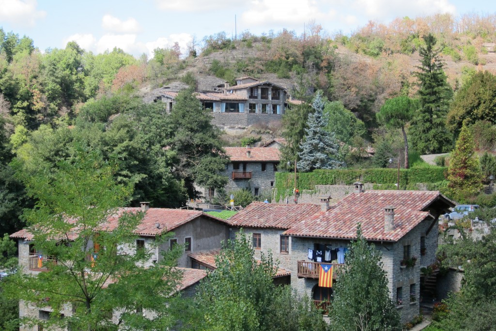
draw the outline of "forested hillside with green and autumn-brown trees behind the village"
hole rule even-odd
[[[432,45],[426,45],[429,34],[434,37]],[[311,113],[308,105],[321,90],[323,112],[330,120],[326,130],[346,147],[340,150],[340,162],[366,166],[360,151],[373,144],[381,158],[372,165],[385,166],[392,151],[397,155],[404,148],[403,138],[398,139],[400,128],[427,129],[418,119],[403,127],[387,127],[378,123],[376,113],[387,99],[422,99],[419,83],[425,77],[419,74],[424,66],[419,50],[432,47],[436,70],[445,75],[441,85],[443,79],[449,84],[439,101],[443,113],[435,117],[443,141],[430,144],[422,136],[411,136],[414,131],[407,132],[413,150],[449,151],[463,119],[495,132],[494,104],[481,102],[483,97],[494,98],[478,94],[481,86],[495,86],[495,42],[495,14],[404,17],[388,25],[370,22],[348,36],[331,35],[316,23],[303,35],[283,30],[255,36],[245,31],[232,40],[220,32],[193,39],[187,50],[177,43],[158,48],[151,59],[146,55],[137,59],[120,49],[93,54],[75,42],[63,49],[39,50],[28,36],[0,29],[2,226],[19,228],[22,207],[33,203],[14,173],[22,169],[35,176],[50,171],[80,146],[117,161],[119,180],[135,183],[130,204],[146,199],[154,206],[178,207],[195,196],[193,182],[222,187],[225,179],[214,175],[226,162],[221,147],[237,144],[240,137],[221,136],[191,93],[208,82],[234,83],[239,76],[269,79],[308,102],[288,111],[282,125],[246,132],[245,142],[260,139],[260,134],[282,134],[290,143],[294,138],[285,151],[285,157],[294,160]],[[191,86],[178,101],[183,117],[167,115],[160,103],[143,102],[155,88],[171,83]],[[486,108],[481,110],[481,103]],[[178,135],[179,128],[187,129]],[[476,136],[478,146],[489,144],[481,150],[493,149],[496,134],[491,134]],[[186,151],[185,146],[197,148]]]

